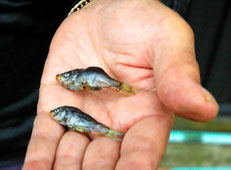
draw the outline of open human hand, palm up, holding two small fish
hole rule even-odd
[[[89,66],[138,93],[72,92],[55,80],[58,73]],[[126,132],[123,141],[65,132],[49,114],[62,105]],[[208,121],[217,110],[200,86],[191,28],[178,14],[157,0],[95,0],[68,17],[52,40],[23,169],[156,169],[174,114]]]

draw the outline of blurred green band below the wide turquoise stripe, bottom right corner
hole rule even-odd
[[[231,145],[168,144],[161,167],[230,166]]]

